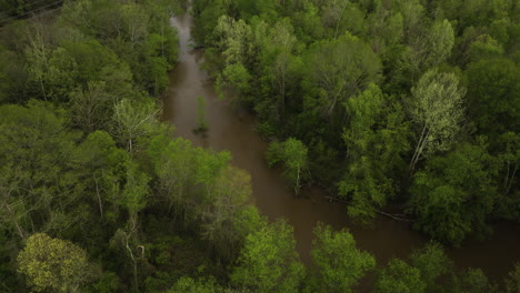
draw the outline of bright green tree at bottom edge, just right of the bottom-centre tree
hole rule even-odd
[[[353,292],[359,279],[376,266],[373,256],[359,251],[347,230],[333,232],[330,226],[319,224],[314,234],[311,255],[317,265],[317,279],[313,292]]]

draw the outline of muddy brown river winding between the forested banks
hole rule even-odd
[[[330,203],[323,190],[312,188],[296,198],[279,170],[267,166],[267,143],[254,131],[254,118],[234,110],[217,98],[208,74],[200,69],[203,57],[189,47],[192,19],[183,14],[171,19],[179,31],[180,62],[170,73],[169,93],[163,99],[163,118],[173,123],[177,134],[196,145],[216,151],[228,150],[232,164],[251,173],[253,200],[260,212],[270,220],[284,218],[294,226],[297,249],[308,263],[312,229],[321,221],[334,229],[347,228],[356,238],[358,247],[372,253],[379,264],[397,256],[404,259],[414,249],[428,242],[410,225],[387,216],[378,216],[373,228],[359,228],[347,216],[343,204]],[[209,131],[201,137],[193,133],[197,118],[197,97],[207,100]],[[516,261],[520,261],[520,226],[498,223],[493,235],[483,241],[467,241],[460,249],[447,249],[459,267],[481,267],[493,281],[501,281]]]

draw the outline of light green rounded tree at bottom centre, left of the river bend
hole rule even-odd
[[[292,228],[286,222],[249,234],[231,282],[253,292],[299,292],[304,267],[294,251]]]

